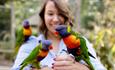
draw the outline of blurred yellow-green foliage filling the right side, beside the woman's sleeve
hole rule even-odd
[[[82,32],[93,43],[107,70],[115,69],[115,1],[82,0]]]

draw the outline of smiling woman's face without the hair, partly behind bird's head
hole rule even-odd
[[[44,14],[45,24],[49,32],[55,32],[55,26],[64,24],[64,17],[59,13],[53,1],[48,1]]]

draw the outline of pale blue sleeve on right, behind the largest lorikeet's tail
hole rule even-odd
[[[93,45],[85,38],[86,40],[86,45],[88,47],[88,51],[95,57],[92,58],[90,57],[90,61],[93,64],[95,70],[106,70],[106,68],[103,66],[103,64],[100,62],[100,60],[97,58],[96,52],[93,48]]]

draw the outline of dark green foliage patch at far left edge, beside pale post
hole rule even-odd
[[[9,41],[11,30],[11,9],[0,6],[0,41]]]

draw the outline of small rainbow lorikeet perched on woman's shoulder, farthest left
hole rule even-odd
[[[16,47],[15,47],[15,54],[17,54],[18,49],[20,48],[20,46],[26,42],[29,37],[32,35],[32,29],[30,26],[30,23],[28,20],[25,20],[22,23],[22,27],[20,29],[17,30],[16,34]]]

